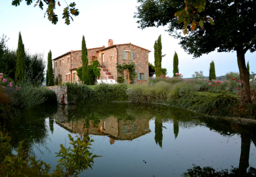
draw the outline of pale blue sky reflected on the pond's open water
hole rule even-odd
[[[34,152],[38,158],[55,167],[55,152],[58,152],[62,143],[69,146],[67,135],[70,134],[63,127],[54,122],[53,134],[49,129],[49,119],[46,119],[49,137],[46,147],[39,147]],[[180,176],[192,164],[212,166],[216,170],[231,166],[238,167],[241,153],[240,135],[231,137],[210,131],[208,127],[197,126],[183,129],[175,139],[173,124],[163,123],[162,148],[155,142],[155,123],[149,122],[150,133],[133,139],[132,141],[116,140],[110,143],[108,136],[90,135],[95,140],[91,146],[96,155],[102,157],[94,159],[93,170],[84,171],[80,176]],[[136,128],[135,128],[136,129]],[[72,134],[74,137],[75,134]],[[47,150],[48,149],[48,150]],[[256,150],[251,143],[249,164],[255,167]],[[145,163],[146,162],[146,163]]]

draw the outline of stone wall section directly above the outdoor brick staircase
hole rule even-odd
[[[110,75],[113,76],[113,79],[117,80],[117,49],[110,48],[99,52],[100,56],[104,53],[104,66],[110,72]],[[101,59],[100,59],[101,60]],[[102,60],[101,60],[102,65]],[[101,78],[100,78],[101,79]]]

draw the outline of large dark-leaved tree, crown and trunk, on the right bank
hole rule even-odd
[[[187,35],[181,30],[184,23],[178,23],[174,16],[178,11],[186,10],[184,1],[180,0],[137,0],[135,18],[139,28],[169,25],[167,30],[171,36],[180,39],[181,47],[194,58],[208,54],[217,49],[218,52],[237,52],[237,62],[242,85],[242,105],[251,103],[249,72],[246,69],[245,53],[256,50],[256,1],[255,0],[205,0],[204,10],[194,16],[195,22],[207,17],[215,25],[205,23],[203,28],[185,24]],[[194,1],[193,1],[194,2]],[[191,13],[189,13],[191,14]],[[186,15],[181,14],[181,15]],[[194,23],[195,23],[194,22]]]

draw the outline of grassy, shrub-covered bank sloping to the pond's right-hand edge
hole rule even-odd
[[[172,78],[169,82],[159,81],[148,87],[128,89],[127,97],[133,102],[161,102],[209,116],[255,119],[255,104],[240,108],[241,98],[235,92],[215,89],[213,91],[217,93],[209,92],[202,81]]]

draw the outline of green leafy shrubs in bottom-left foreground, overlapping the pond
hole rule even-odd
[[[25,147],[23,141],[20,143],[19,148],[16,151],[17,154],[11,153],[11,137],[5,130],[0,131],[0,176],[77,176],[83,170],[87,170],[88,167],[92,168],[95,157],[101,157],[93,155],[88,149],[93,140],[90,140],[86,122],[82,127],[85,127],[83,131],[74,140],[69,134],[70,145],[73,147],[65,148],[60,145],[61,150],[56,157],[61,157],[58,161],[59,164],[52,174],[49,174],[51,169],[50,164],[46,164],[42,160],[36,160],[36,157],[31,157],[29,150]]]

